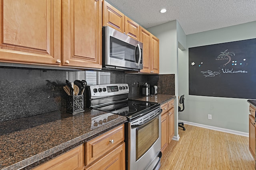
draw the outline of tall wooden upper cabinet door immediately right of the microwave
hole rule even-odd
[[[143,69],[140,72],[150,73],[151,33],[140,27],[140,42],[143,43]]]

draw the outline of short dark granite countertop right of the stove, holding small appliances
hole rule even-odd
[[[169,100],[175,99],[176,96],[169,95],[169,94],[156,94],[156,95],[150,95],[150,96],[136,96],[129,99],[132,100],[142,100],[147,102],[156,102],[160,103],[160,105],[168,102]]]

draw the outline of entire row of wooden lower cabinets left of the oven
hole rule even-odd
[[[33,170],[125,170],[124,124]]]

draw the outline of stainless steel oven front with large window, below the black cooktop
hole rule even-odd
[[[130,170],[152,170],[160,167],[161,150],[161,113],[158,109],[152,116],[139,118],[129,122],[128,139],[128,169]],[[158,167],[158,168],[156,168]]]

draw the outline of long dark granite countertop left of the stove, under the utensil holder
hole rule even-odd
[[[126,121],[86,108],[77,115],[52,111],[0,122],[0,169],[31,169]]]

